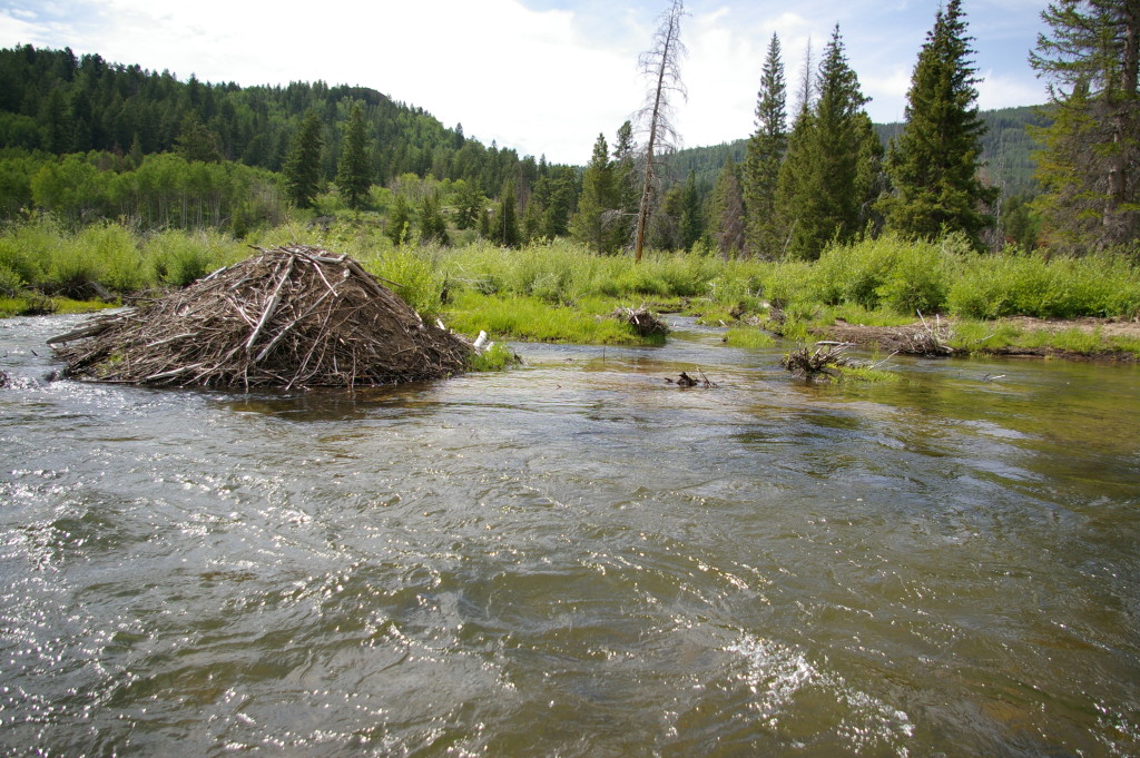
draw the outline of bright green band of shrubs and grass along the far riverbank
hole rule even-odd
[[[367,217],[290,221],[238,239],[115,222],[70,230],[44,215],[0,229],[0,316],[132,304],[252,246],[285,244],[347,253],[425,318],[496,340],[661,344],[606,318],[648,304],[726,327],[725,343],[744,349],[826,340],[883,353],[1140,360],[1134,255],[979,254],[954,235],[832,244],[814,262],[650,252],[637,263],[567,239],[396,245]]]

